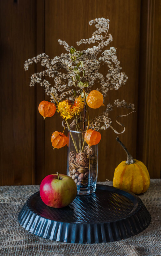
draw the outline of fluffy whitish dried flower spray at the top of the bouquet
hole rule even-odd
[[[45,67],[44,71],[31,76],[30,86],[34,86],[35,83],[44,86],[47,95],[55,96],[52,97],[52,102],[55,102],[55,99],[57,102],[63,99],[72,102],[76,96],[84,98],[84,93],[87,97],[92,86],[98,81],[100,84],[98,90],[103,97],[107,96],[108,90],[118,90],[124,85],[128,76],[121,72],[116,49],[110,47],[109,50],[104,50],[104,47],[113,40],[112,35],[108,34],[109,19],[93,19],[89,22],[89,25],[92,24],[95,24],[96,27],[92,36],[88,39],[81,39],[77,42],[77,45],[83,43],[96,44],[93,47],[77,51],[74,47],[70,47],[65,41],[59,39],[58,42],[64,46],[67,53],[62,53],[53,59],[42,53],[36,58],[26,60],[25,70],[34,62],[40,62]],[[99,73],[103,65],[108,67],[106,76]],[[54,86],[51,86],[45,79],[46,76],[53,78]],[[100,128],[107,129],[111,126],[112,121],[109,118],[109,112],[114,106],[134,109],[134,104],[127,104],[124,100],[115,100],[113,105],[108,104],[106,110],[92,120],[96,130]]]

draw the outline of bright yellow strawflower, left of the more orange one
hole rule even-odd
[[[59,104],[56,106],[56,109],[57,112],[60,113],[61,117],[65,120],[71,119],[73,117],[73,114],[71,113],[71,105],[66,100],[59,102]]]

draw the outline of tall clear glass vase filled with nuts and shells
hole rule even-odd
[[[77,184],[78,195],[89,195],[96,190],[98,176],[97,145],[88,148],[85,132],[68,132],[67,175]]]

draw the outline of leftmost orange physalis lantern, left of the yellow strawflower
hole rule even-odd
[[[39,113],[44,117],[51,117],[55,114],[56,107],[55,104],[46,100],[43,100],[39,104]]]

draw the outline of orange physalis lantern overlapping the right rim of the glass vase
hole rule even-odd
[[[92,145],[97,145],[100,142],[101,134],[100,132],[89,129],[86,131],[84,139],[90,148]]]

